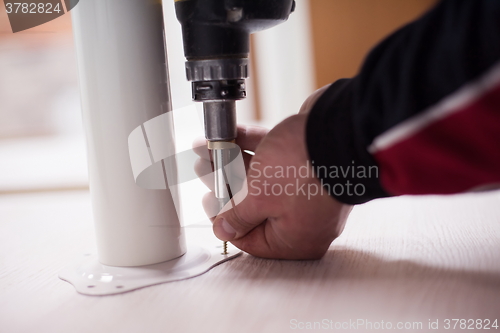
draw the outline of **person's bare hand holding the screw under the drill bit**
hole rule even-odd
[[[314,97],[318,96],[313,94],[308,101]],[[247,196],[215,218],[213,229],[219,239],[257,257],[319,259],[342,232],[351,206],[322,190],[308,162],[305,125],[310,107],[270,132],[239,127],[236,143],[255,155],[244,153]],[[197,172],[205,174],[210,168],[208,152],[201,147],[195,151],[202,157]],[[213,178],[205,178],[205,183],[213,188]],[[214,216],[217,204],[212,193],[203,204],[207,214]]]

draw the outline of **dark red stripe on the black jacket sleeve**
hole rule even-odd
[[[391,194],[451,194],[500,184],[500,83],[375,151]]]

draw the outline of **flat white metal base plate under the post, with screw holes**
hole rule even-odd
[[[137,267],[106,266],[97,255],[86,254],[59,272],[59,278],[71,283],[84,295],[113,295],[155,284],[184,280],[201,275],[211,268],[236,258],[241,251],[228,243],[229,254],[221,246],[202,248],[188,245],[183,256],[155,265]]]

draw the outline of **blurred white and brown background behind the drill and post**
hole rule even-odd
[[[85,0],[82,0],[85,1]],[[239,121],[272,127],[315,89],[356,74],[367,52],[436,0],[296,0],[252,36]],[[189,103],[180,25],[164,1],[174,109]],[[71,16],[13,34],[0,5],[0,195],[87,188]]]

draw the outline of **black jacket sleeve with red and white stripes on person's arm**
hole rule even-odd
[[[445,0],[312,108],[317,177],[349,204],[500,184],[500,1]]]

